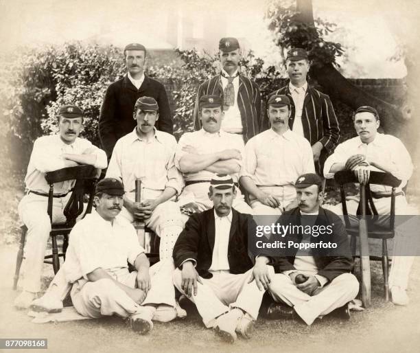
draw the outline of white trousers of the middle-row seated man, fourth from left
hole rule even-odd
[[[253,209],[253,214],[258,216],[279,216],[281,215],[281,208],[286,207],[292,201],[296,200],[296,190],[293,185],[259,186],[258,188],[267,194],[276,196],[280,201],[280,207],[272,208],[259,202],[257,198],[250,196],[250,207]]]

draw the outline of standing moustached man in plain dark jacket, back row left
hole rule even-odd
[[[158,103],[160,119],[156,128],[165,133],[173,133],[172,113],[165,87],[144,73],[145,47],[137,43],[127,45],[124,48],[124,58],[128,72],[123,78],[110,84],[100,113],[99,134],[108,159],[117,140],[135,128],[132,109],[141,97],[152,97]]]

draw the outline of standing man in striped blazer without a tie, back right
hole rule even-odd
[[[322,175],[325,159],[334,152],[340,138],[336,113],[328,95],[307,84],[310,61],[304,49],[290,49],[285,67],[290,83],[271,94],[284,94],[290,99],[290,130],[310,141],[316,172]]]

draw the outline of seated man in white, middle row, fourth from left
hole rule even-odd
[[[249,192],[253,214],[279,215],[296,207],[294,181],[315,172],[315,166],[310,143],[289,128],[289,98],[271,95],[267,106],[271,128],[247,142],[240,183]]]

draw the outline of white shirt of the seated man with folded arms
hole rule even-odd
[[[198,155],[205,155],[207,153],[221,152],[227,149],[236,149],[241,152],[242,160],[244,159],[244,140],[240,135],[232,135],[221,130],[218,133],[207,133],[202,128],[201,130],[194,131],[194,133],[185,133],[178,141],[178,147],[175,153],[176,168],[180,170],[179,161],[187,154],[183,151],[185,146],[193,146],[196,148]],[[237,160],[239,166],[242,166],[242,160]],[[191,180],[211,180],[214,174],[208,170],[200,170],[199,172],[184,173],[185,181]],[[233,181],[237,182],[239,173],[231,174]]]

